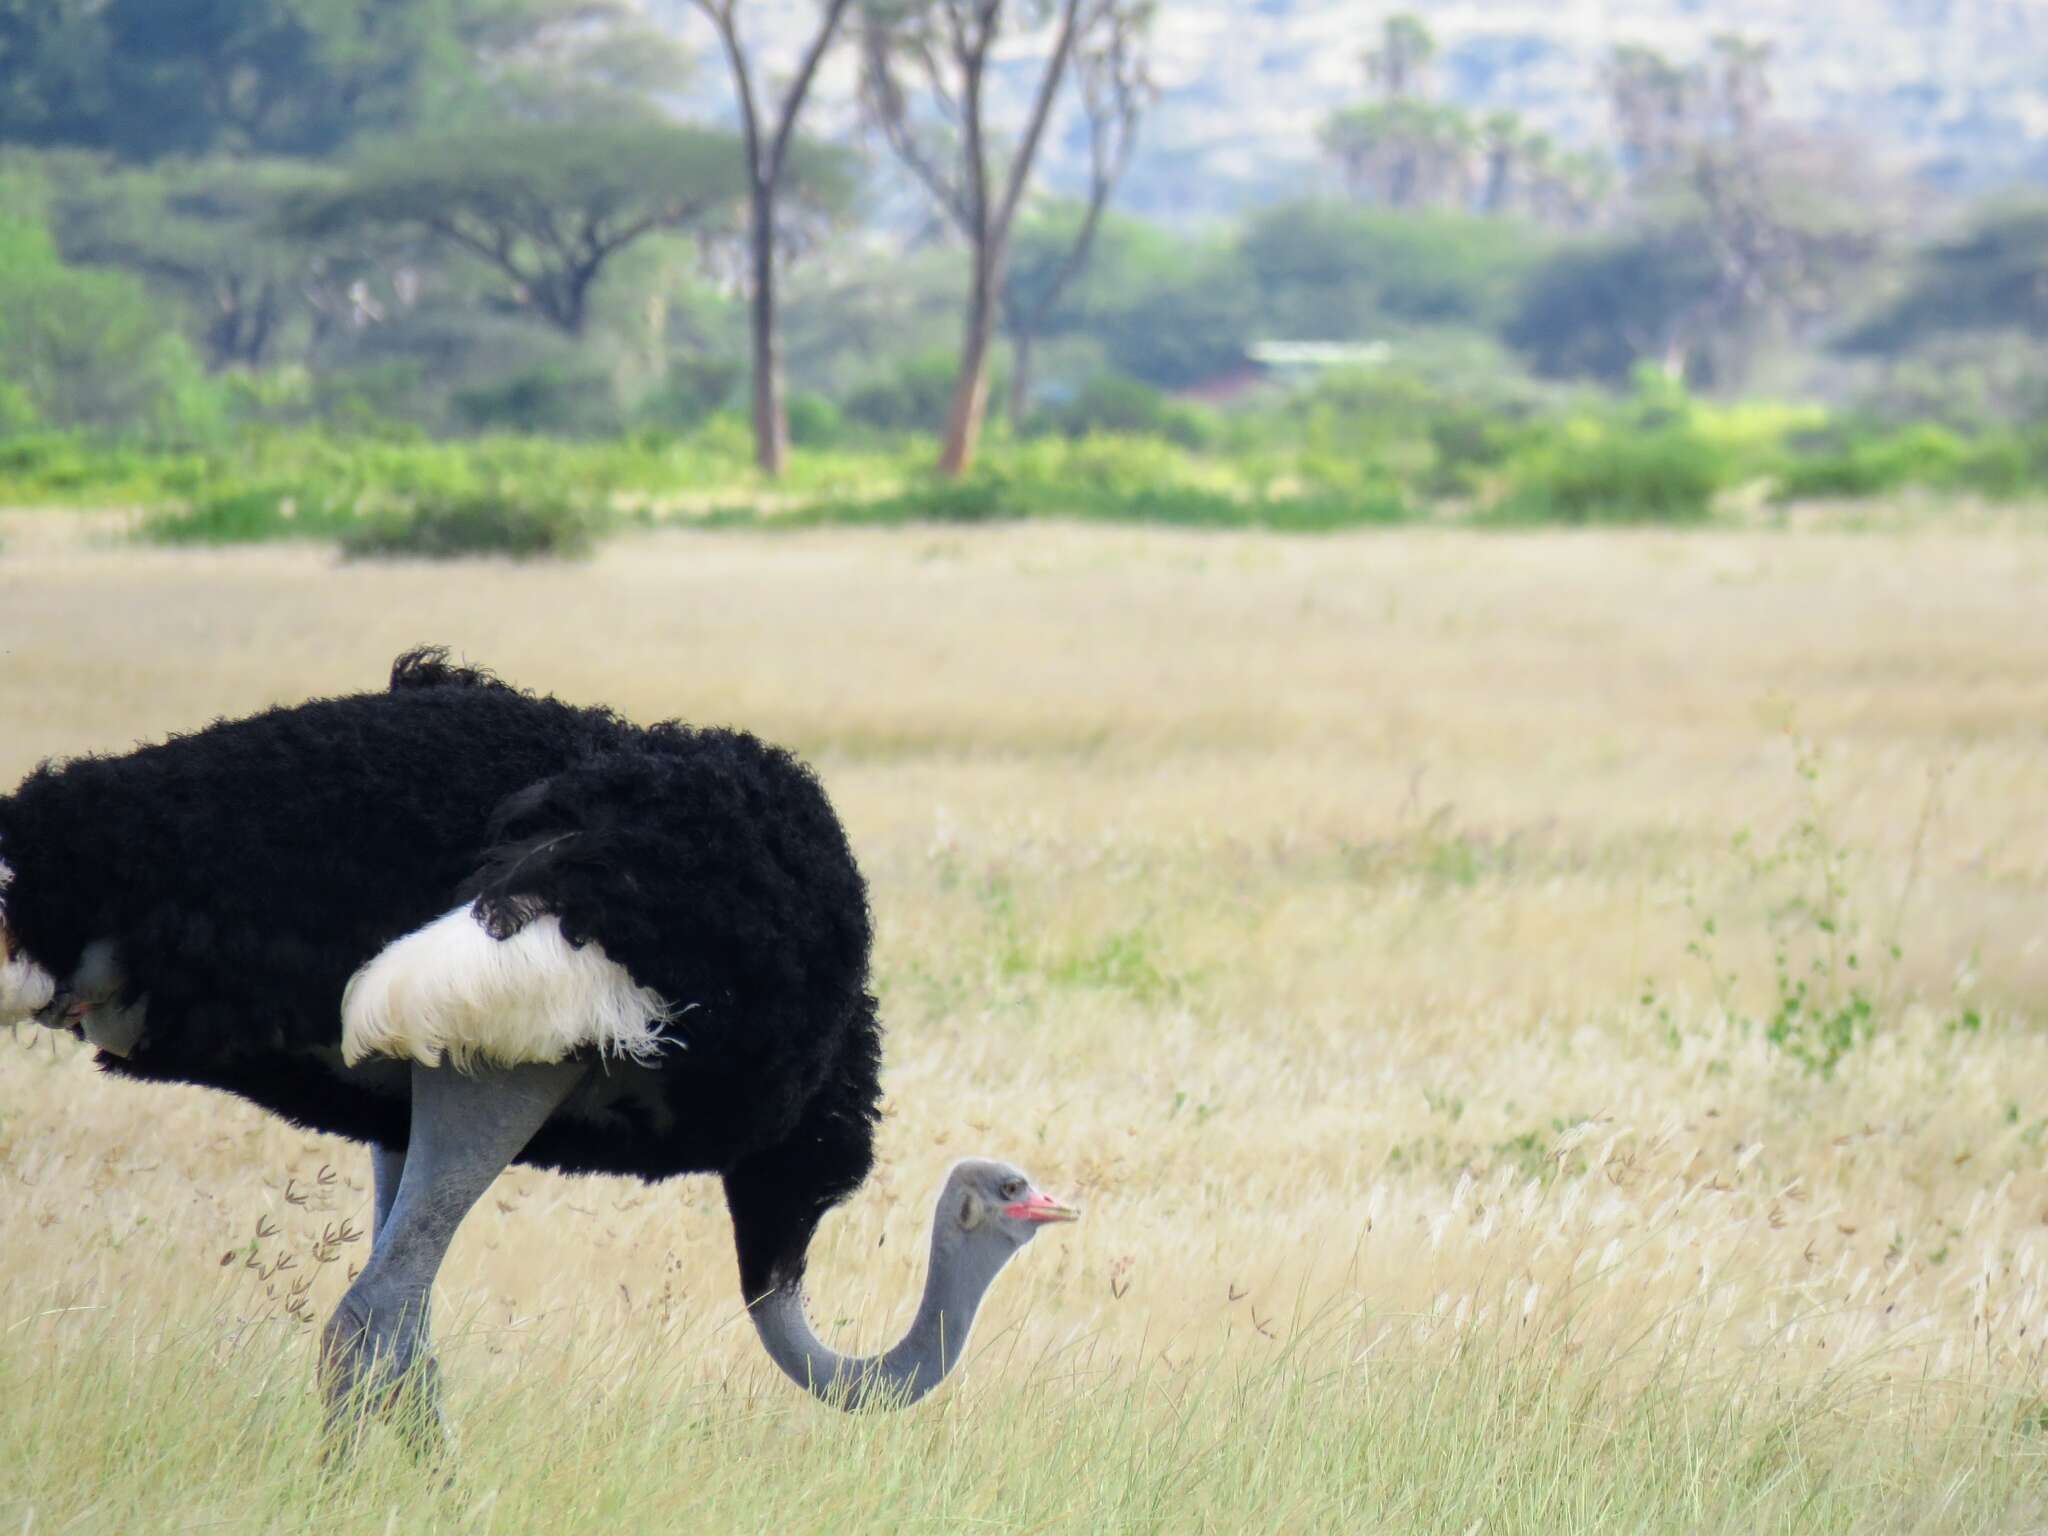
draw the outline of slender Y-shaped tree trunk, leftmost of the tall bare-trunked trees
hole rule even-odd
[[[791,150],[797,143],[797,117],[817,80],[817,66],[838,37],[840,23],[852,10],[852,0],[821,0],[817,31],[782,90],[780,106],[768,113],[756,82],[754,63],[739,35],[739,0],[692,0],[719,33],[719,47],[733,74],[733,98],[739,106],[739,147],[748,174],[748,287],[754,330],[754,461],[768,475],[780,475],[788,463],[788,408],[782,399],[782,334],[776,307],[776,252],[780,229],[776,205],[782,193]]]

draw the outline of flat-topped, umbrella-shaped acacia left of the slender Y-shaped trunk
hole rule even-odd
[[[745,186],[731,135],[672,123],[518,123],[393,145],[297,199],[309,238],[399,229],[500,272],[512,301],[582,336],[606,264],[657,229],[727,221]]]

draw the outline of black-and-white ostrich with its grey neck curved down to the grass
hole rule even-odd
[[[872,1165],[866,977],[866,885],[793,756],[440,649],[385,692],[43,764],[0,799],[0,1024],[369,1143],[371,1257],[319,1341],[330,1423],[401,1386],[438,1419],[430,1288],[510,1163],[719,1174],[768,1358],[840,1407],[930,1393],[1004,1264],[1079,1212],[963,1161],[903,1339],[817,1339],[805,1253]]]

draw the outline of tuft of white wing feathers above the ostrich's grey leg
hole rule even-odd
[[[569,944],[559,918],[537,918],[498,940],[469,907],[457,907],[348,979],[342,1059],[514,1065],[596,1047],[645,1063],[662,1051],[657,1030],[668,1018],[668,1004],[600,944]]]

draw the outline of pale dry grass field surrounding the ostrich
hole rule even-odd
[[[2048,541],[1024,526],[336,565],[10,522],[0,780],[440,641],[821,770],[895,1337],[969,1151],[1075,1196],[901,1415],[774,1376],[711,1182],[506,1176],[453,1477],[322,1470],[358,1149],[0,1040],[0,1528],[2048,1526]],[[291,1262],[289,1266],[285,1262]]]

